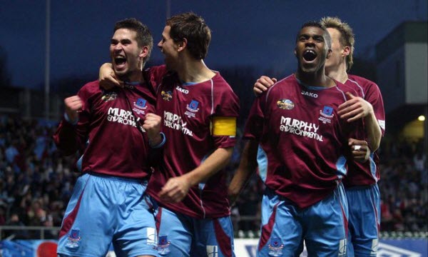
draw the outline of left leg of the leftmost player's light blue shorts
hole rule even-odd
[[[66,208],[58,239],[58,254],[64,256],[105,256],[111,245],[113,220],[111,201],[101,181],[84,174],[76,181]]]

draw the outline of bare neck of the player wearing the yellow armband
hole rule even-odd
[[[208,81],[215,73],[208,69],[203,60],[188,59],[183,61],[177,71],[180,81],[200,83]]]

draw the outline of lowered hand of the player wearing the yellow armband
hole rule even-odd
[[[189,188],[190,183],[185,176],[170,178],[165,183],[165,186],[163,186],[158,196],[162,201],[166,201],[168,203],[179,203],[183,198],[185,198],[185,196],[187,196]]]

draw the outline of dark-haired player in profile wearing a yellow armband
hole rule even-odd
[[[151,68],[161,79],[156,110],[168,138],[147,189],[159,205],[161,256],[235,256],[223,168],[235,145],[239,101],[203,61],[210,39],[202,17],[172,16],[158,43],[169,73],[165,66]],[[119,84],[106,64],[100,79]]]

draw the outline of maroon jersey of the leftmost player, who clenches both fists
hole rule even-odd
[[[151,74],[145,71],[150,81]],[[151,84],[128,85],[104,91],[98,81],[77,94],[83,101],[76,125],[61,121],[54,141],[66,154],[84,149],[82,171],[109,176],[148,178],[151,174],[148,138],[138,119],[155,112]],[[88,141],[88,146],[84,145]]]

